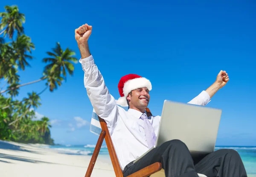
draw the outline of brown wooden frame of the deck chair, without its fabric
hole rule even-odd
[[[151,115],[151,112],[150,110],[147,108],[146,109],[146,112],[147,112],[147,115]],[[122,169],[120,168],[120,165],[119,165],[119,162],[118,162],[118,159],[117,159],[117,156],[116,156],[116,151],[114,149],[114,146],[113,146],[113,143],[112,143],[112,140],[111,140],[111,136],[110,136],[110,133],[108,131],[108,126],[106,124],[106,122],[104,121],[104,119],[99,118],[99,122],[100,122],[100,125],[102,127],[102,132],[100,133],[99,135],[99,139],[96,143],[96,147],[93,151],[93,155],[91,157],[91,160],[90,160],[90,163],[89,163],[89,166],[87,168],[87,171],[86,171],[86,174],[84,177],[90,177],[92,172],[93,172],[93,167],[96,163],[96,160],[97,160],[97,157],[99,155],[99,151],[100,151],[100,148],[102,146],[102,143],[103,143],[103,140],[105,138],[105,141],[106,141],[106,144],[107,144],[107,147],[108,147],[108,152],[109,152],[109,155],[110,155],[110,158],[111,158],[111,162],[112,162],[112,165],[113,165],[113,169],[114,169],[114,172],[116,174],[116,177],[123,177],[123,173],[122,173]],[[150,176],[151,174],[154,174],[156,173],[157,171],[160,171],[162,169],[162,164],[159,163],[159,162],[156,162],[156,163],[153,163],[139,171],[136,171],[135,173],[129,175],[128,177],[148,177]]]

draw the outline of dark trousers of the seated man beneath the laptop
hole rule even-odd
[[[152,149],[133,165],[125,167],[124,177],[152,163],[162,163],[166,177],[247,177],[241,157],[233,149],[219,149],[200,160],[193,160],[189,149],[180,140],[171,140]]]

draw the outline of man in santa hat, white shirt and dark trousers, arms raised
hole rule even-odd
[[[145,109],[150,101],[151,82],[136,74],[123,76],[118,84],[120,98],[115,101],[90,54],[88,39],[92,26],[82,25],[75,30],[75,38],[81,53],[79,62],[84,70],[84,87],[97,115],[103,118],[113,141],[113,146],[124,176],[145,166],[161,162],[166,177],[246,177],[246,171],[239,154],[231,149],[210,153],[204,159],[194,162],[188,148],[180,140],[171,140],[151,150],[137,163],[133,163],[154,146],[160,116],[149,116]],[[212,96],[229,81],[225,71],[207,90],[192,99],[190,104],[206,105]],[[128,105],[128,111],[117,106]]]

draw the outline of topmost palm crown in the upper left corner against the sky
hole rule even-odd
[[[14,31],[17,30],[17,34],[23,33],[22,23],[25,22],[25,15],[19,12],[17,6],[5,6],[6,12],[0,12],[1,23],[0,23],[0,35],[6,36],[8,34],[9,38],[12,39]]]

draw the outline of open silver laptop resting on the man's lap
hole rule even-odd
[[[169,140],[181,140],[194,159],[214,151],[222,110],[165,100],[155,146]]]

